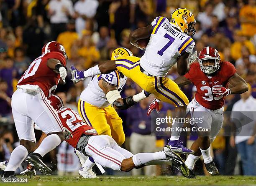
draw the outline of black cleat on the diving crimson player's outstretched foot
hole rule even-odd
[[[179,156],[179,154],[172,151],[169,146],[165,146],[163,152],[166,154],[166,161],[172,161],[172,166],[177,168],[184,177],[188,178],[189,168],[182,161],[182,158]]]

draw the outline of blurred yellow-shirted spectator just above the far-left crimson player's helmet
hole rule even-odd
[[[71,47],[78,37],[78,33],[75,32],[74,20],[69,20],[69,23],[67,23],[67,31],[60,33],[57,38],[57,42],[64,46],[69,58],[71,58]]]

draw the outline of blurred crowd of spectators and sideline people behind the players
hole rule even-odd
[[[235,65],[237,73],[251,85],[251,94],[256,98],[256,0],[0,0],[0,161],[8,160],[18,143],[11,114],[12,93],[20,76],[41,55],[45,43],[56,40],[64,45],[69,57],[67,66],[76,65],[79,69],[110,59],[112,51],[118,47],[128,48],[141,57],[144,51],[131,45],[128,39],[131,30],[151,24],[159,15],[169,19],[172,11],[181,7],[195,15],[197,32],[193,39],[197,53],[205,46],[216,48],[221,60]],[[174,66],[168,77],[178,76]],[[60,85],[57,92],[68,107],[76,109],[79,95],[88,81],[73,85],[70,79],[69,74],[66,85]],[[193,85],[182,90],[191,101],[195,94]],[[140,88],[128,80],[122,94],[131,96],[139,91]],[[228,96],[226,111],[231,111],[239,99],[240,96]],[[151,121],[146,116],[151,100],[150,97],[128,111],[119,112],[126,134],[124,147],[133,153],[157,151],[166,143],[165,138],[151,135]],[[173,107],[161,103],[161,109],[171,112]],[[228,128],[228,121],[225,121],[223,130]],[[40,137],[40,132],[36,132],[36,136]],[[183,139],[188,147],[193,140]],[[148,143],[156,145],[148,146]],[[62,144],[59,153],[54,151],[48,156],[49,163],[58,161],[60,172],[77,169],[77,158],[69,148]],[[232,139],[218,137],[212,149],[221,174],[245,174]],[[68,152],[70,156],[65,155]],[[196,169],[199,174],[205,172],[202,162],[197,163]],[[173,174],[166,170],[153,166],[145,169],[144,174]],[[133,175],[142,174],[140,171],[134,171]]]

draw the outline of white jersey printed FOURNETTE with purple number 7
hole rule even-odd
[[[153,32],[140,65],[147,73],[164,77],[180,55],[185,51],[192,53],[195,42],[189,35],[176,30],[165,17],[157,17],[151,24]]]

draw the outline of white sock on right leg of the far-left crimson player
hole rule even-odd
[[[51,150],[56,148],[61,143],[61,139],[57,134],[51,134],[44,138],[40,146],[34,151],[34,153],[38,153],[41,156],[46,155],[46,153],[49,153]]]

